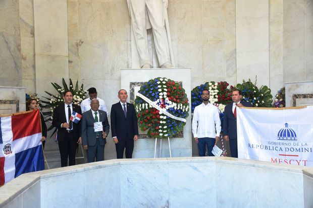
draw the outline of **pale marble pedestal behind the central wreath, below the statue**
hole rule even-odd
[[[191,103],[191,82],[190,82],[190,68],[149,68],[149,69],[122,69],[121,70],[121,89],[125,89],[128,92],[128,102],[133,102],[135,99],[135,92],[137,92],[140,86],[149,81],[150,79],[162,77],[174,80],[176,82],[182,82],[183,88],[186,91],[189,105]],[[160,141],[159,141],[160,142]],[[189,111],[189,117],[187,117],[186,125],[184,126],[183,137],[171,138],[171,151],[172,157],[190,157],[192,154],[191,145],[191,111]],[[154,144],[153,138],[140,138],[135,142],[133,158],[151,158],[154,157]],[[158,144],[159,148],[160,145]],[[160,153],[160,149],[157,149],[157,153]],[[162,142],[161,157],[169,157],[169,145],[167,141]]]

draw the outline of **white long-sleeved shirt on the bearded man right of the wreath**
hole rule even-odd
[[[218,107],[208,103],[201,103],[193,111],[192,118],[193,137],[215,138],[221,133],[221,120]]]

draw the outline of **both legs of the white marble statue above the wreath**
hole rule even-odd
[[[140,67],[152,67],[147,43],[147,29],[152,28],[156,55],[162,68],[173,68],[168,29],[168,0],[127,0]],[[170,44],[170,45],[169,45]]]

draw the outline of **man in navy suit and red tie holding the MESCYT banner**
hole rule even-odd
[[[237,146],[237,107],[252,107],[252,104],[241,100],[241,91],[234,90],[232,92],[233,103],[225,106],[224,121],[223,121],[223,134],[224,139],[229,141],[230,152],[233,158],[238,158]]]

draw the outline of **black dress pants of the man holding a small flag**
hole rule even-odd
[[[77,143],[74,140],[73,131],[66,132],[63,141],[59,141],[59,150],[61,155],[61,167],[69,165],[75,165],[75,152],[77,148]]]

